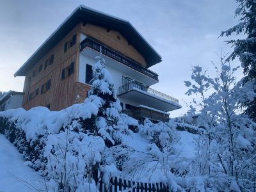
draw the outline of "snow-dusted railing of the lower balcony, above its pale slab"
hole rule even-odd
[[[138,84],[138,83],[135,83],[135,82],[130,82],[130,83],[124,84],[123,86],[120,86],[119,87],[119,95],[121,95],[125,92],[129,92],[133,88],[138,88],[139,90],[142,90],[143,92],[147,92],[147,93],[150,93],[150,94],[155,95],[157,97],[161,97],[163,99],[171,100],[173,102],[179,103],[178,99],[175,99],[175,98],[171,97],[170,95],[166,95],[166,94],[161,93],[157,90],[149,88],[148,86],[145,86],[143,84]]]

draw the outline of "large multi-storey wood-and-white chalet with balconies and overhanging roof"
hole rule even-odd
[[[179,100],[149,88],[158,75],[148,67],[161,56],[143,36],[128,21],[86,6],[77,7],[15,73],[26,76],[22,107],[60,110],[83,102],[100,49],[125,113],[166,121],[166,112],[181,108]]]

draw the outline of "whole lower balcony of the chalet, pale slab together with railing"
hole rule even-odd
[[[138,106],[148,106],[163,111],[163,113],[181,108],[178,99],[135,82],[120,86],[118,96],[121,99],[137,102]]]

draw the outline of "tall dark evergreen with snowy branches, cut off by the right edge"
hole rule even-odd
[[[222,31],[221,36],[230,36],[232,33],[239,35],[244,33],[246,39],[229,40],[227,44],[232,44],[234,51],[227,58],[227,61],[239,58],[244,67],[244,83],[255,81],[256,79],[256,1],[254,0],[236,0],[239,3],[236,9],[236,16],[240,16],[239,24],[227,31]],[[256,92],[256,83],[253,88]],[[246,100],[243,104],[246,114],[254,121],[256,120],[256,98]]]

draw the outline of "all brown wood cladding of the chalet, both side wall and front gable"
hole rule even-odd
[[[92,24],[79,23],[26,73],[23,90],[25,94],[22,104],[24,109],[47,106],[53,111],[58,111],[77,102],[83,102],[87,97],[90,85],[78,82],[79,38],[81,33],[96,38],[125,56],[138,61],[143,67],[146,66],[145,59],[140,52],[129,45],[129,42],[118,31],[93,26]],[[69,49],[67,49],[67,46],[65,48],[65,43],[70,42],[74,35],[77,37],[76,43],[72,47],[68,46]],[[51,63],[52,55],[54,55],[54,60]],[[45,68],[45,62],[48,61],[51,64]],[[74,62],[74,72],[67,78],[61,79],[63,68],[67,68],[72,62]],[[49,83],[50,79],[51,82]],[[49,84],[51,85],[48,90],[47,86]],[[42,92],[42,86],[44,85],[47,89]]]

